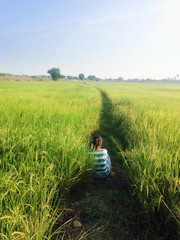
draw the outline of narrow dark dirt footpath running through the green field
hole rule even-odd
[[[138,208],[138,203],[132,198],[128,183],[120,174],[122,164],[116,157],[113,143],[116,129],[113,126],[112,103],[105,92],[99,92],[102,97],[102,112],[99,130],[93,136],[102,136],[103,147],[108,150],[116,176],[93,179],[91,183],[71,193],[68,207],[74,209],[72,218],[73,221],[78,221],[76,223],[79,227],[73,227],[72,222],[69,223],[64,237],[72,240],[144,239],[144,230],[140,229],[137,211],[134,211]]]

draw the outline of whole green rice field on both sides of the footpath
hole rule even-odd
[[[0,82],[0,239],[51,239],[65,196],[91,178],[101,92],[112,103],[117,174],[149,214],[180,222],[180,86]]]

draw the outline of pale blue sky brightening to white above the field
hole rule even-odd
[[[0,0],[0,72],[180,74],[179,0]]]

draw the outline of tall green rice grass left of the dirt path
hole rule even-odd
[[[46,239],[56,206],[88,178],[101,99],[79,83],[0,83],[0,238]]]

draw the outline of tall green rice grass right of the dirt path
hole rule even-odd
[[[180,223],[180,86],[104,84],[113,103],[114,143],[147,212]]]

